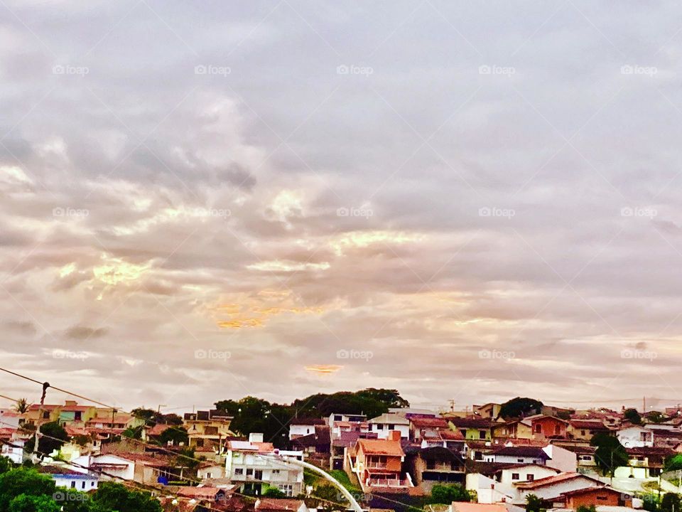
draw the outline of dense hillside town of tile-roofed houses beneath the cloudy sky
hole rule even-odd
[[[234,403],[247,407],[247,400],[256,399]],[[216,408],[180,416],[18,400],[0,409],[1,455],[9,461],[5,475],[31,466],[55,489],[82,496],[123,484],[163,511],[678,507],[679,406],[645,414],[530,398],[465,410],[389,405],[373,416],[346,405],[324,416],[295,415],[279,426],[275,443],[235,427],[244,425],[241,407],[237,415]]]

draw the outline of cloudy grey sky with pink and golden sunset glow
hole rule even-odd
[[[672,1],[1,0],[1,366],[676,403],[681,56]]]

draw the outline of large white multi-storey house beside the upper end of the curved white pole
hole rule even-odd
[[[263,434],[251,433],[248,441],[227,442],[225,478],[239,485],[239,491],[261,495],[269,486],[286,496],[303,492],[303,466],[278,460],[277,456],[303,460],[303,452],[275,450],[263,442]]]

